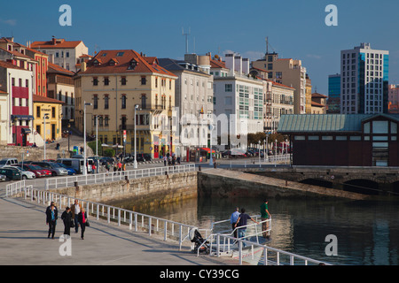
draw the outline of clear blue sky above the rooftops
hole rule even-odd
[[[72,27],[59,26],[59,6],[72,8]],[[338,8],[338,27],[325,25],[325,7]],[[390,52],[390,83],[399,83],[397,0],[43,0],[0,4],[0,36],[16,42],[82,40],[94,50],[132,49],[147,56],[182,58],[189,52],[227,50],[261,58],[269,37],[279,57],[301,59],[317,92],[327,94],[329,74],[340,72],[340,50],[370,42]],[[194,44],[195,42],[195,44]],[[194,48],[195,46],[195,48]]]

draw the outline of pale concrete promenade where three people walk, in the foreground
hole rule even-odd
[[[71,229],[72,255],[61,256],[64,241],[60,219],[55,238],[48,239],[45,207],[15,198],[0,198],[0,264],[1,265],[224,265],[238,264],[211,256],[192,254],[188,246],[178,249],[176,241],[163,241],[144,232],[107,224],[90,218],[84,240]],[[187,242],[188,244],[189,242]]]

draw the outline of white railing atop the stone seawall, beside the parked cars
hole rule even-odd
[[[154,168],[144,168],[128,171],[105,172],[98,174],[75,175],[71,177],[50,178],[45,180],[45,188],[74,187],[75,182],[79,185],[98,184],[126,180],[128,178],[137,179],[144,177],[153,177],[181,172],[194,172],[195,164],[183,164],[175,166],[162,166]]]

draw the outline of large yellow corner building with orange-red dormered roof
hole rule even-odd
[[[74,77],[75,126],[83,132],[86,108],[86,133],[98,132],[105,146],[133,154],[136,142],[137,153],[153,158],[174,153],[176,79],[156,57],[102,50]]]

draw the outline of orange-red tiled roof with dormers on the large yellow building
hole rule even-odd
[[[117,59],[118,63],[110,65],[111,59]],[[94,63],[98,60],[99,64]],[[149,63],[150,62],[150,63]],[[80,74],[106,74],[106,73],[159,73],[176,77],[165,68],[157,64],[156,57],[143,57],[135,50],[101,50],[87,63],[87,69]],[[129,66],[133,63],[133,68]],[[152,63],[152,64],[151,64]]]

